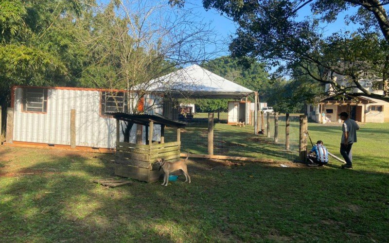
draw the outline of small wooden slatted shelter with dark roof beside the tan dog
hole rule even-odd
[[[122,112],[109,113],[116,119],[116,152],[115,175],[133,179],[156,182],[162,174],[155,163],[157,158],[166,161],[176,161],[180,157],[181,128],[188,123],[167,119],[160,115],[133,115]],[[120,121],[127,121],[145,126],[146,139],[137,143],[121,142]],[[160,141],[152,141],[154,125],[161,126]],[[164,142],[165,127],[177,128],[177,141]]]

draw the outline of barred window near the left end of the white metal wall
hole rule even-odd
[[[30,112],[47,112],[47,89],[23,88],[22,110]]]

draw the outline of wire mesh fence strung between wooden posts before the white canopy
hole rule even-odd
[[[176,118],[177,119],[177,118]],[[264,134],[255,134],[254,126],[228,124],[227,114],[220,114],[214,119],[213,155],[274,158],[294,161],[299,158],[300,119],[299,115],[289,116],[289,139],[286,136],[286,115],[278,116],[278,129],[275,115],[268,113],[259,119],[259,129]],[[278,132],[277,132],[278,131]],[[165,141],[175,141],[174,129],[166,129]],[[287,140],[289,140],[287,142]],[[288,144],[288,145],[287,145]],[[208,148],[208,113],[197,113],[188,125],[181,129],[181,151],[207,155]]]

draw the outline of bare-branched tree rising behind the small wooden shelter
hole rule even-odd
[[[112,0],[95,9],[91,26],[81,39],[91,50],[82,82],[127,91],[132,113],[147,111],[137,110],[136,101],[156,87],[168,96],[160,76],[213,54],[203,49],[215,39],[208,25],[166,1]]]

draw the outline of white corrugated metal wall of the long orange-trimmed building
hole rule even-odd
[[[115,147],[116,120],[100,116],[100,92],[87,90],[49,89],[47,113],[34,113],[22,112],[22,88],[16,88],[14,140],[70,145],[71,109],[76,110],[76,146]],[[154,112],[159,113],[158,108]],[[136,125],[130,137],[135,142]],[[154,140],[159,139],[160,126],[155,125]]]

